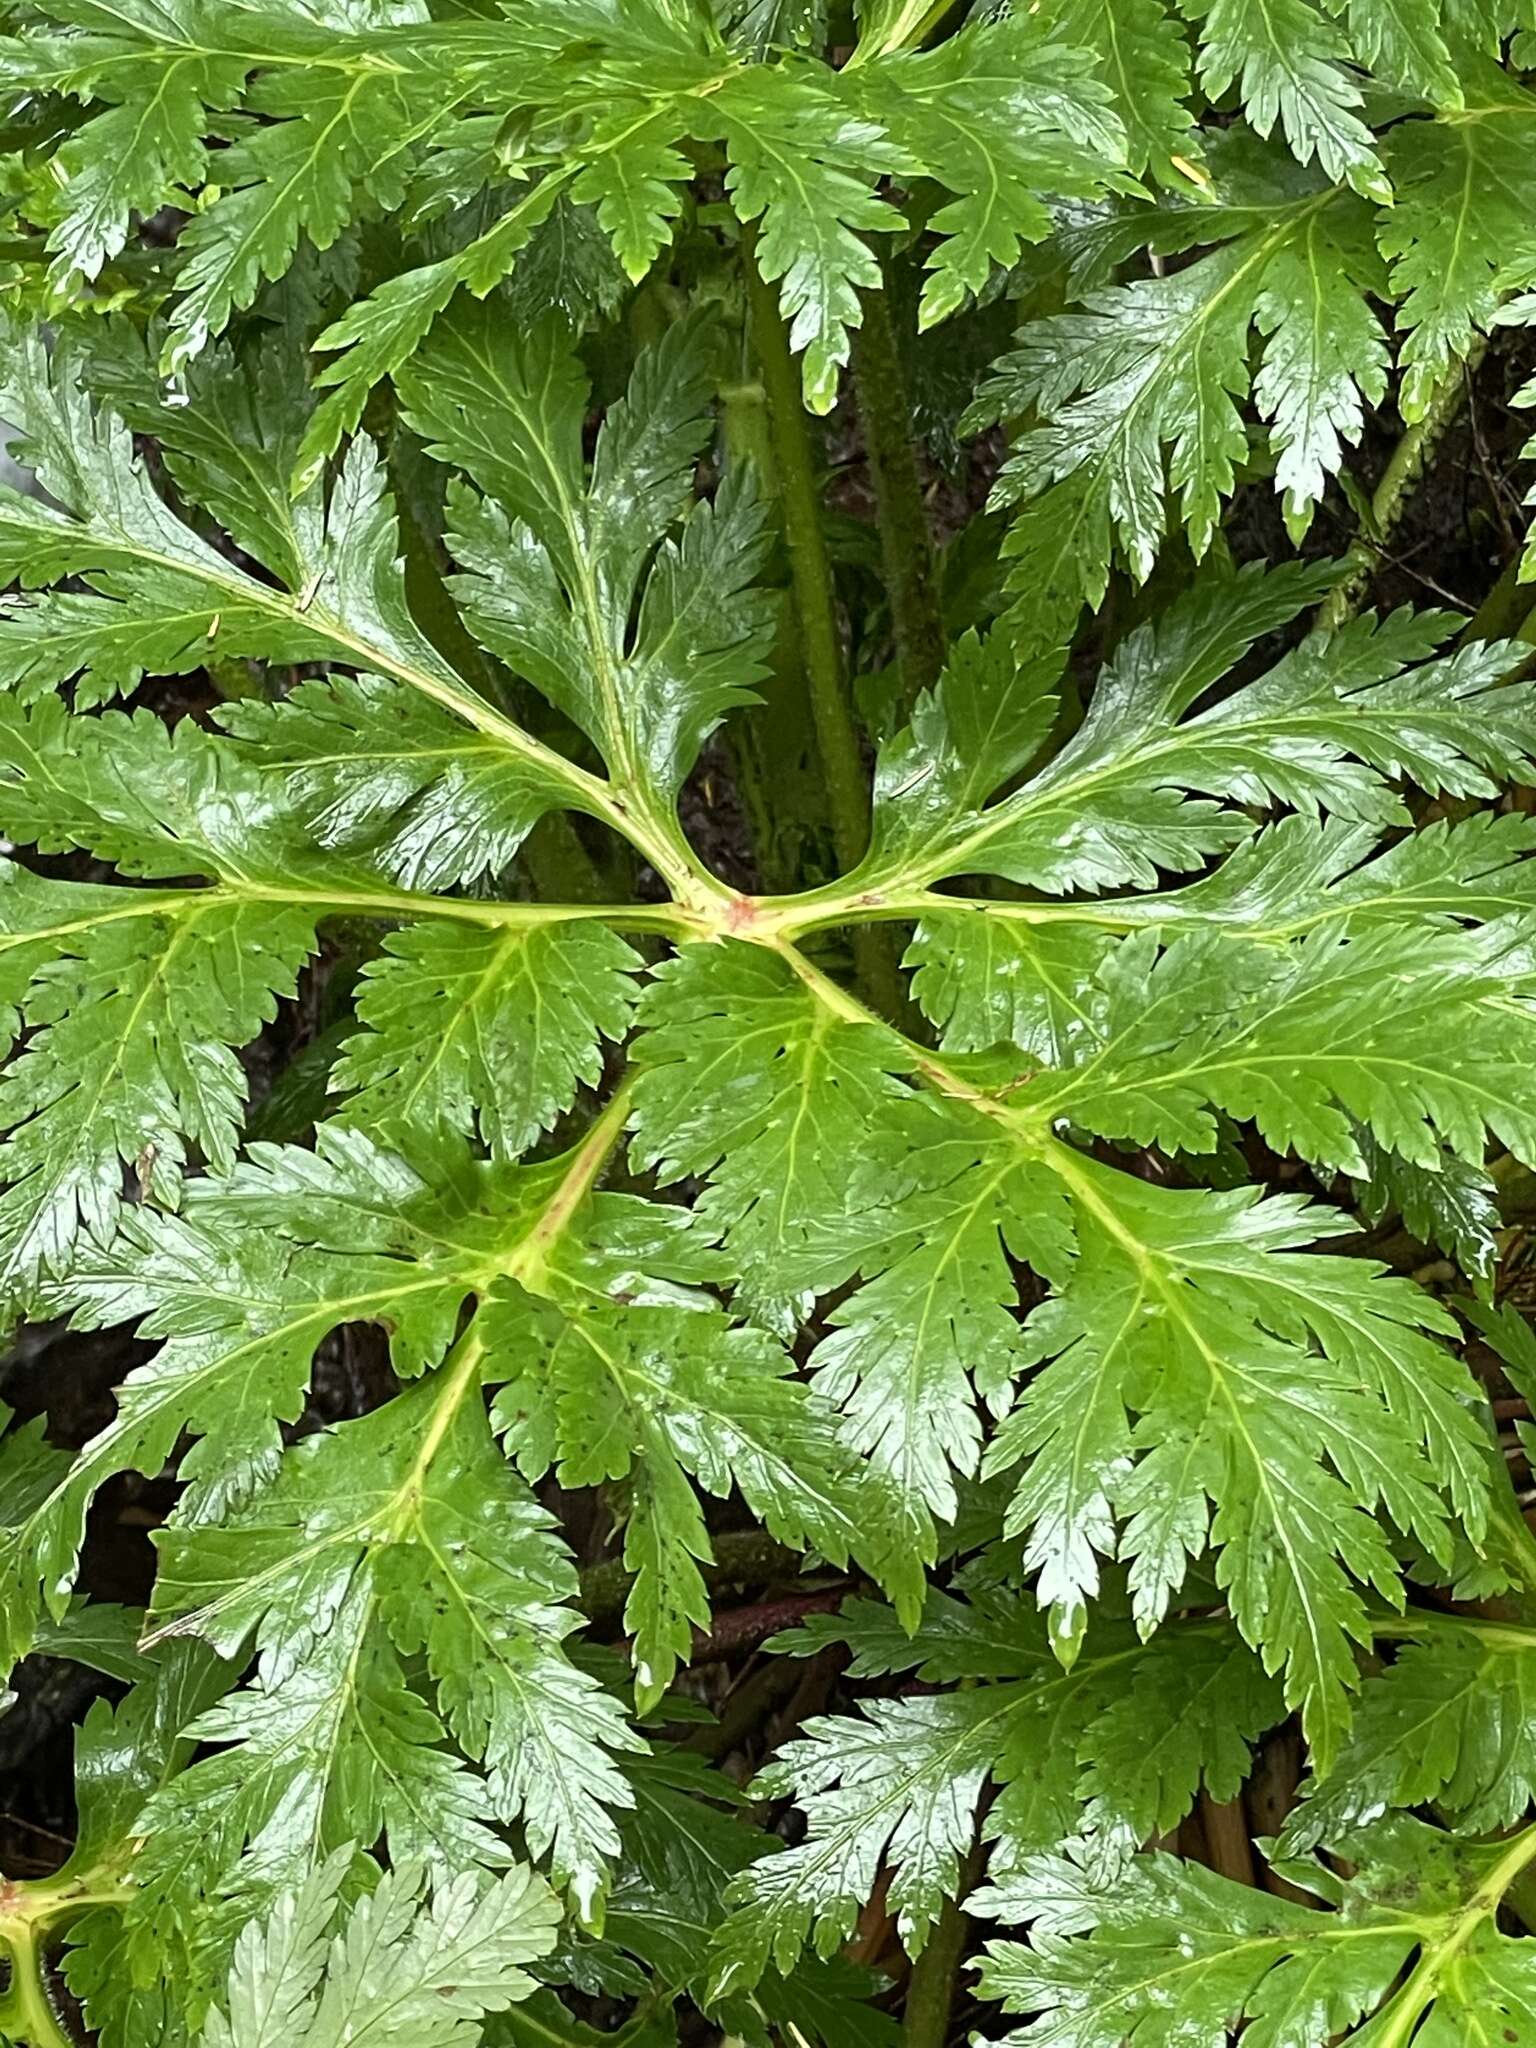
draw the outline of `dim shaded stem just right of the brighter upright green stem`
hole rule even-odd
[[[874,516],[905,713],[911,711],[918,692],[934,684],[944,668],[944,621],[938,610],[934,541],[911,444],[911,406],[889,289],[864,293],[864,324],[854,336],[854,389],[874,483]]]

